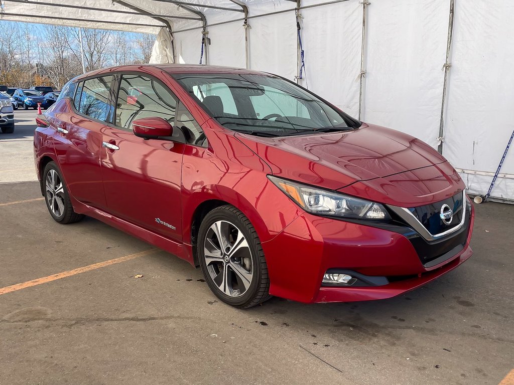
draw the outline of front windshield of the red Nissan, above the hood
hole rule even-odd
[[[258,136],[354,129],[358,121],[297,85],[272,75],[175,74],[174,78],[226,128]]]

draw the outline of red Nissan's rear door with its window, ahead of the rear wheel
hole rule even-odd
[[[74,100],[52,108],[50,123],[56,132],[56,155],[71,195],[90,206],[105,209],[100,152],[102,130],[113,119],[109,92],[113,75],[82,81]]]

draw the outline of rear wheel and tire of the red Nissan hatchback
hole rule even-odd
[[[73,210],[61,171],[54,162],[49,162],[45,166],[42,183],[46,207],[56,222],[74,223],[84,217]]]

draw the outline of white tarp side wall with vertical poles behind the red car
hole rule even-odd
[[[300,66],[296,4],[245,3],[250,16],[262,15],[248,20],[248,67],[295,79]],[[301,2],[306,7],[300,9],[305,72],[298,82],[358,117],[364,7],[359,0],[322,3]],[[437,148],[449,14],[450,0],[370,0],[363,121],[407,132]],[[514,129],[514,3],[455,0],[454,14],[443,155],[460,171],[471,194],[485,195]],[[180,24],[174,27],[180,29]],[[243,22],[208,30],[208,63],[245,67]],[[194,60],[184,62],[197,63],[200,31],[174,36],[177,45],[193,45]],[[507,154],[491,197],[514,200],[514,149]]]

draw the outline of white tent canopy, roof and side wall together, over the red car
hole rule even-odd
[[[2,5],[2,20],[154,33],[154,63],[199,63],[201,57],[203,64],[296,79],[363,121],[438,148],[473,194],[486,194],[514,128],[511,0],[2,0]],[[297,20],[305,58],[301,79]],[[513,152],[491,197],[514,200]]]

